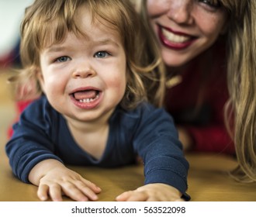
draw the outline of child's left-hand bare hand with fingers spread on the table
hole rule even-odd
[[[42,201],[49,197],[55,201],[62,201],[62,195],[80,202],[98,199],[101,189],[74,171],[64,166],[60,161],[43,160],[29,173],[29,181],[37,185],[37,195]]]

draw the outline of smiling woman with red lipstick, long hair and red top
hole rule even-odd
[[[255,1],[133,2],[158,41],[184,149],[236,156],[234,177],[256,181]]]

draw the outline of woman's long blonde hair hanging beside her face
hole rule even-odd
[[[137,9],[154,35],[147,15],[147,0]],[[256,181],[256,1],[220,0],[227,11],[227,86],[230,98],[225,122],[234,140],[238,166],[230,175],[237,181]]]

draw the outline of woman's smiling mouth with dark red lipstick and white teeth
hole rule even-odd
[[[189,47],[197,39],[195,36],[189,36],[185,33],[177,33],[172,29],[157,25],[158,36],[161,43],[173,50],[183,50]]]

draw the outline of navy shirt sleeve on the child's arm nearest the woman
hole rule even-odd
[[[144,160],[145,184],[170,184],[189,200],[185,193],[189,163],[183,155],[171,116],[161,108],[142,115],[144,118],[134,145]]]

